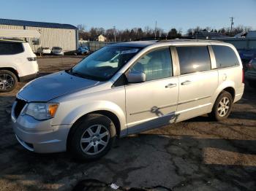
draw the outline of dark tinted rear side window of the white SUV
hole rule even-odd
[[[20,42],[0,42],[0,55],[15,55],[23,51],[23,44]]]

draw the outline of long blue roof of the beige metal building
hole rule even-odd
[[[0,18],[0,25],[8,26],[34,26],[34,27],[45,27],[45,28],[66,28],[66,29],[78,29],[75,26],[61,23],[44,23],[27,20],[12,20]]]

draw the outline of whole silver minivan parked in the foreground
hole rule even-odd
[[[15,136],[32,152],[105,155],[116,137],[202,114],[223,120],[244,93],[236,48],[215,41],[111,44],[67,71],[39,77],[12,106]]]

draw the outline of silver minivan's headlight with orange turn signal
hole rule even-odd
[[[54,117],[59,104],[52,103],[29,103],[25,114],[34,117],[36,120],[48,120]]]

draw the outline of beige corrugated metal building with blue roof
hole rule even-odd
[[[39,38],[26,38],[32,50],[39,47],[61,47],[64,52],[78,48],[78,28],[69,24],[0,19],[1,29],[36,30]],[[18,31],[18,30],[17,30]],[[15,35],[13,37],[16,37]]]

